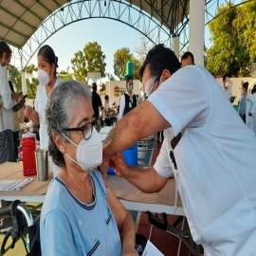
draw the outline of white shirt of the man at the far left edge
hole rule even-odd
[[[11,99],[11,90],[9,88],[7,66],[2,66],[1,64],[0,64],[0,95],[2,97],[2,104],[3,104],[3,106],[0,109],[0,132],[6,131],[8,129],[13,130],[11,108],[17,102]]]

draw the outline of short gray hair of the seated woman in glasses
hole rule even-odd
[[[48,153],[52,156],[53,162],[65,167],[64,155],[59,151],[53,141],[54,134],[64,134],[70,137],[69,132],[64,132],[70,124],[73,108],[79,104],[78,99],[84,97],[91,101],[91,91],[82,82],[65,81],[55,86],[49,95],[46,105],[46,124],[49,137]],[[64,138],[64,141],[68,141]]]

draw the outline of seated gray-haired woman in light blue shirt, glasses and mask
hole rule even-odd
[[[41,213],[43,255],[137,255],[135,223],[96,170],[102,144],[89,88],[75,81],[56,86],[46,122],[49,155],[61,171]]]

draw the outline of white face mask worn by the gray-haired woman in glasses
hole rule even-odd
[[[91,131],[89,131],[90,133]],[[63,134],[64,136],[64,134]],[[92,136],[89,139],[82,137],[81,141],[77,145],[70,138],[64,136],[73,145],[77,146],[76,157],[77,161],[71,156],[65,155],[74,163],[81,166],[84,172],[93,170],[102,163],[102,142],[101,135],[93,128]]]

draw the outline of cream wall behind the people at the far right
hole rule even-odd
[[[233,82],[232,84],[232,95],[236,96],[235,101],[233,102],[234,105],[238,104],[238,101],[240,100],[241,97],[241,88],[242,88],[242,82],[248,82],[248,91],[250,91],[250,89],[252,89],[252,85],[254,82],[256,82],[256,78],[251,78],[251,77],[247,77],[247,78],[229,78],[231,82]],[[216,81],[223,86],[223,81],[222,78],[220,79],[216,79]]]

